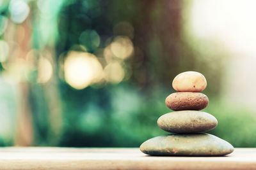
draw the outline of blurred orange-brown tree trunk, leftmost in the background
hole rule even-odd
[[[14,25],[12,25],[14,26]],[[30,39],[31,39],[31,27],[30,27],[30,17],[28,17],[25,22],[16,27],[17,29],[12,32],[14,35],[13,38],[17,38],[18,45],[16,47],[20,47],[17,49],[12,49],[13,51],[17,51],[14,56],[14,60],[12,62],[18,62],[18,60],[22,59],[25,67],[28,67],[28,62],[26,60],[26,55],[30,50]],[[20,36],[20,29],[22,30],[23,36]],[[14,47],[15,48],[15,47]],[[20,66],[22,67],[22,66]],[[28,68],[25,68],[28,69]],[[20,74],[20,82],[19,82],[19,106],[17,113],[17,130],[15,136],[15,145],[17,146],[31,146],[33,145],[33,117],[31,113],[31,104],[29,103],[29,88],[30,83],[23,79],[22,73]]]

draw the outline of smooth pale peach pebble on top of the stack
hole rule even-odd
[[[196,71],[180,73],[172,81],[173,89],[178,92],[202,92],[206,86],[204,75]]]

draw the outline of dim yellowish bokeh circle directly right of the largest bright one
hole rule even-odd
[[[104,68],[104,77],[111,83],[120,83],[124,79],[125,71],[117,61],[111,62]]]

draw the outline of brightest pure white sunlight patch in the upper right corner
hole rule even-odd
[[[232,52],[256,53],[256,1],[197,0],[191,8],[196,36],[217,39]]]

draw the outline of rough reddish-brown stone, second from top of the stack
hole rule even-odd
[[[170,94],[165,99],[166,106],[174,111],[202,110],[208,103],[208,97],[198,92],[177,92]]]

